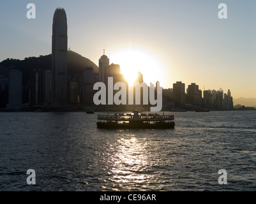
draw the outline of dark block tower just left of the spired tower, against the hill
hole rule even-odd
[[[94,85],[94,71],[93,67],[87,67],[84,69],[83,75],[83,94],[82,94],[82,102],[87,105],[93,105],[93,90]]]

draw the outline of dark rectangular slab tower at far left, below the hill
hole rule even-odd
[[[20,70],[10,70],[8,99],[10,106],[22,104],[22,72]]]

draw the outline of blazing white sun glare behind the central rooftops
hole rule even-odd
[[[110,56],[110,61],[119,64],[121,72],[128,81],[129,85],[138,77],[138,72],[142,73],[144,82],[149,85],[155,84],[162,79],[162,68],[160,62],[154,55],[134,48],[118,50]]]

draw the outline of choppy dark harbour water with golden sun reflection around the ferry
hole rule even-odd
[[[256,190],[256,112],[173,113],[175,129],[121,131],[97,113],[0,112],[0,191]]]

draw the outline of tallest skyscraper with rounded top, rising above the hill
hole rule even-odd
[[[67,61],[68,61],[68,25],[66,12],[57,8],[52,25],[52,106],[68,104]]]

